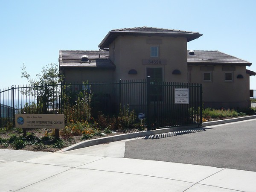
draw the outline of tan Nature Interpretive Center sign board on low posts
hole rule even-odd
[[[64,114],[15,114],[16,128],[65,128]]]

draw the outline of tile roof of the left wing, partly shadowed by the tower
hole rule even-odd
[[[81,61],[83,55],[88,56],[88,61]],[[115,68],[110,61],[109,51],[64,51],[59,50],[59,67],[92,67]]]

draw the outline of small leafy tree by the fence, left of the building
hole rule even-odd
[[[59,75],[58,64],[51,63],[45,67],[42,67],[41,74],[36,74],[36,79],[31,78],[30,74],[26,71],[25,64],[21,67],[21,77],[25,78],[29,85],[32,87],[29,93],[33,96],[37,96],[37,102],[42,106],[42,112],[47,113],[47,106],[54,103],[53,95],[56,90],[54,86],[59,84],[63,76]],[[27,94],[27,92],[23,92]]]

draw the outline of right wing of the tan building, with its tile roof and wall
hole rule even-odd
[[[219,51],[188,52],[188,81],[203,85],[204,107],[249,108],[251,63]]]

